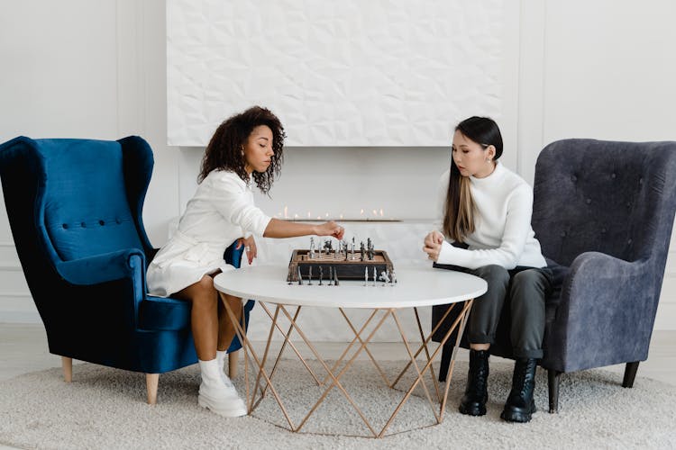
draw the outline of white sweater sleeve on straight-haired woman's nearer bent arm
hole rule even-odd
[[[533,192],[528,186],[519,186],[507,200],[505,231],[499,247],[465,250],[444,241],[437,263],[469,269],[494,264],[507,270],[513,269],[524,252],[525,241],[531,229],[532,213]]]

